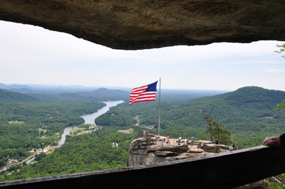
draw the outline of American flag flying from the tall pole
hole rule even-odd
[[[130,93],[130,105],[135,102],[147,102],[154,101],[156,95],[156,85],[157,82],[154,82],[150,85],[144,85],[142,87],[136,87]]]

